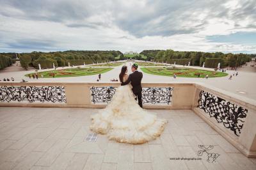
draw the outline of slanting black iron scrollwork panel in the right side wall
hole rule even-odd
[[[247,109],[203,90],[200,91],[198,107],[208,113],[211,118],[215,118],[218,123],[223,123],[225,128],[230,128],[237,136],[241,134]]]

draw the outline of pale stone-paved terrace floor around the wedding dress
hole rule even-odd
[[[0,107],[0,169],[256,169],[232,144],[190,110],[149,110],[168,119],[161,137],[145,144],[109,141],[90,133],[98,109]],[[214,145],[216,162],[197,153]],[[170,158],[202,158],[172,160]]]

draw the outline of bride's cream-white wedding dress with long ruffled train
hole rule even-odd
[[[124,76],[124,81],[128,75]],[[91,116],[90,129],[107,134],[120,143],[141,144],[156,139],[164,130],[167,120],[142,109],[134,99],[131,86],[117,88],[112,102],[98,114]]]

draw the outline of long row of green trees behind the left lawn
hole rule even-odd
[[[67,50],[63,52],[30,52],[19,54],[20,65],[23,68],[33,66],[38,69],[55,66],[83,65],[114,61],[116,57],[124,56],[116,50]]]

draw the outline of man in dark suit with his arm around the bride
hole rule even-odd
[[[134,95],[136,95],[136,97],[138,98],[138,103],[140,105],[140,107],[142,108],[142,100],[141,100],[141,91],[142,91],[142,87],[141,87],[141,79],[143,77],[143,74],[141,72],[138,72],[138,65],[136,63],[134,63],[132,65],[132,73],[129,75],[127,81],[122,82],[121,86],[124,86],[126,84],[129,84],[129,82],[131,82],[132,84],[132,92],[134,93]]]

